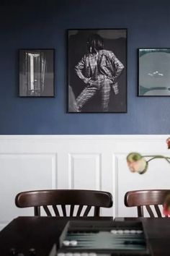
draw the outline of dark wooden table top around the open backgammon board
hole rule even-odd
[[[48,256],[68,221],[80,218],[18,217],[0,232],[0,256]],[[81,220],[94,221],[86,217]],[[137,218],[98,217],[97,221],[136,221]],[[138,218],[143,223],[152,256],[170,255],[170,218]]]

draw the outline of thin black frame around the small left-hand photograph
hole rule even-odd
[[[51,61],[53,61],[52,65],[52,72],[53,72],[53,84],[51,85],[51,87],[53,88],[53,93],[51,93],[51,95],[21,95],[20,93],[20,86],[21,82],[20,82],[20,72],[22,72],[21,70],[21,56],[20,53],[21,51],[52,51],[52,58]],[[18,63],[19,63],[19,87],[18,87],[18,95],[19,98],[55,98],[55,48],[19,48],[18,49]]]

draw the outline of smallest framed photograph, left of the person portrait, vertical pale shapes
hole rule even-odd
[[[19,49],[19,97],[54,96],[54,49]]]

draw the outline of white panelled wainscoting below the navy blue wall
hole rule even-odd
[[[170,165],[149,163],[146,174],[132,174],[128,153],[170,155],[169,135],[1,135],[0,229],[32,209],[14,205],[18,192],[32,189],[97,189],[113,195],[114,206],[103,216],[136,216],[125,208],[128,190],[169,188]]]

